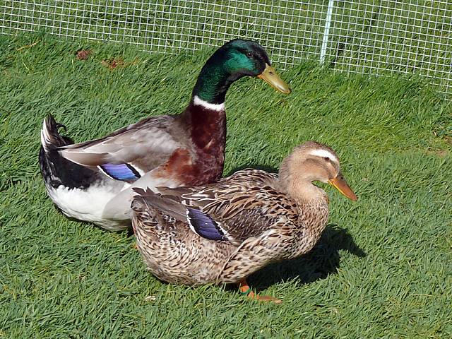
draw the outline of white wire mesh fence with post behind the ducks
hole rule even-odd
[[[0,32],[20,31],[165,53],[246,37],[279,67],[314,59],[340,71],[419,73],[452,97],[450,0],[0,1]]]

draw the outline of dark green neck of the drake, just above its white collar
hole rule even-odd
[[[210,58],[201,69],[193,89],[192,97],[212,105],[221,105],[230,85],[241,78],[239,73],[231,74],[225,69],[225,63]]]

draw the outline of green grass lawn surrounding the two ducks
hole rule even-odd
[[[46,114],[85,141],[182,112],[212,51],[0,36],[0,338],[451,338],[451,104],[416,78],[302,64],[281,72],[291,95],[232,85],[225,174],[277,169],[314,139],[337,151],[359,197],[322,185],[331,218],[319,244],[251,276],[283,304],[162,283],[127,232],[57,212],[37,164]]]

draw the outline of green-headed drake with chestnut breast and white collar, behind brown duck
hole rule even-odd
[[[256,42],[232,40],[201,69],[182,114],[149,117],[104,138],[74,144],[52,116],[41,131],[47,193],[67,216],[107,230],[131,225],[133,187],[201,185],[219,179],[225,159],[225,95],[243,76],[290,93]]]

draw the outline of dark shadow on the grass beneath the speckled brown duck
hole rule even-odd
[[[347,230],[335,224],[326,226],[319,242],[308,254],[299,258],[272,263],[248,278],[248,283],[257,292],[287,280],[299,283],[313,283],[325,279],[330,274],[338,273],[340,267],[340,250],[364,258],[367,254],[360,249]]]

